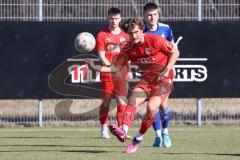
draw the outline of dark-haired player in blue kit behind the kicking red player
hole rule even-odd
[[[169,25],[164,23],[159,23],[159,8],[155,3],[147,3],[144,6],[144,22],[146,28],[145,33],[157,34],[174,44],[172,30]],[[170,121],[170,110],[167,106],[168,97],[163,101],[159,107],[159,112],[156,112],[155,121],[153,123],[153,128],[155,130],[155,141],[154,147],[164,147],[169,148],[172,146],[171,139],[168,133],[169,121]]]

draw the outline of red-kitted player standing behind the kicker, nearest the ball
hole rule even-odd
[[[108,10],[108,26],[102,29],[96,38],[96,50],[103,66],[110,66],[115,63],[117,55],[120,53],[124,43],[129,41],[129,36],[119,27],[121,22],[121,11],[118,8]],[[113,95],[117,100],[117,121],[122,125],[122,117],[126,109],[127,96],[127,68],[122,75],[114,73],[100,73],[102,104],[99,110],[99,120],[101,124],[101,137],[109,138],[107,122],[108,112]],[[119,78],[123,77],[123,78]],[[118,85],[121,84],[121,85]]]

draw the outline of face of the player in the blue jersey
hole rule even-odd
[[[158,10],[151,10],[151,11],[146,11],[144,13],[144,21],[147,23],[147,25],[154,26],[157,24],[159,19],[159,13]]]

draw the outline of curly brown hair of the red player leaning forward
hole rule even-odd
[[[139,29],[144,30],[145,29],[145,24],[144,22],[139,19],[139,18],[130,18],[128,19],[124,25],[123,25],[123,30],[126,33],[129,33],[129,31],[133,30],[135,26],[138,26]]]

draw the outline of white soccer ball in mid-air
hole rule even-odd
[[[74,46],[80,53],[91,52],[95,48],[95,45],[96,40],[89,32],[79,33],[74,40]]]

